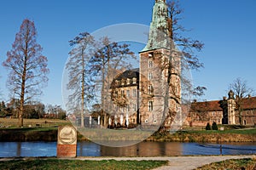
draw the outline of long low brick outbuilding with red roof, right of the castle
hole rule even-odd
[[[226,103],[225,103],[226,102]],[[234,105],[229,105],[234,103]],[[243,99],[241,103],[241,121],[242,125],[256,124],[256,97]],[[231,110],[231,111],[229,111]],[[234,111],[234,122],[230,114]],[[227,121],[224,121],[224,120]],[[206,102],[194,102],[191,104],[189,115],[184,122],[186,126],[206,126],[207,122],[217,122],[218,124],[236,124],[239,125],[239,111],[236,99],[223,99]]]

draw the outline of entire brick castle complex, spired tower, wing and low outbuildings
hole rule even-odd
[[[140,67],[124,71],[113,79],[109,93],[114,116],[109,126],[121,127],[206,126],[207,122],[239,124],[234,93],[218,101],[182,104],[181,59],[170,39],[166,0],[155,0],[148,43],[140,54]],[[256,123],[256,97],[241,105],[244,125]],[[174,118],[176,117],[176,118]]]

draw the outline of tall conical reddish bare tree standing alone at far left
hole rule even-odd
[[[23,126],[24,103],[42,94],[41,89],[48,82],[47,58],[41,54],[42,50],[34,22],[23,20],[12,49],[7,53],[8,59],[3,62],[9,70],[9,90],[20,99],[19,127]]]

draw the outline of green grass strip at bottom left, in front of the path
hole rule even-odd
[[[143,170],[161,167],[168,163],[168,161],[79,161],[79,160],[26,160],[26,161],[0,161],[0,169],[15,170],[15,169],[34,169],[34,170],[56,170],[56,169],[109,169],[109,170]]]

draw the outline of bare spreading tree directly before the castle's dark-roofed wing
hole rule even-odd
[[[120,72],[131,68],[131,59],[136,56],[129,49],[128,44],[111,42],[108,37],[103,37],[96,54],[90,59],[88,73],[94,77],[94,83],[101,91],[102,111],[104,115],[104,127],[108,126],[108,111],[111,95],[109,92],[114,77]]]

